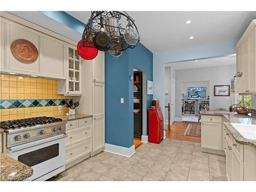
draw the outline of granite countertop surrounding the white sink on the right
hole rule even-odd
[[[201,115],[213,115],[223,116],[227,119],[224,125],[228,131],[232,134],[234,140],[240,144],[246,144],[256,147],[256,140],[245,139],[230,123],[242,123],[242,124],[253,124],[256,125],[256,117],[249,115],[238,114],[236,112],[228,111],[206,111],[202,112]]]

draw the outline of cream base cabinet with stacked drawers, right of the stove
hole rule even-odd
[[[66,123],[66,168],[90,157],[92,152],[92,118]]]

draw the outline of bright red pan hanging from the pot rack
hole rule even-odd
[[[98,49],[96,49],[91,42],[84,41],[83,45],[81,43],[82,40],[77,44],[77,52],[83,59],[91,60],[98,55]]]

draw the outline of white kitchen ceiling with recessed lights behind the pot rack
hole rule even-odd
[[[66,11],[86,23],[90,11]],[[135,19],[142,44],[152,52],[238,39],[256,18],[246,11],[127,11]],[[191,24],[185,24],[191,20]],[[189,40],[190,36],[195,38]]]

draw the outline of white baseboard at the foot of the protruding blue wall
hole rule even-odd
[[[135,146],[131,146],[130,148],[112,145],[109,143],[105,143],[105,152],[122,155],[125,157],[131,157],[133,154],[135,154]]]

